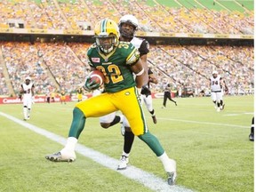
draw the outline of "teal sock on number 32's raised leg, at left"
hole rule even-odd
[[[68,137],[75,137],[78,139],[80,133],[84,130],[85,119],[84,113],[79,108],[74,108],[73,120],[69,129]]]

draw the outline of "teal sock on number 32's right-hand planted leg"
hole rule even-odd
[[[146,132],[143,135],[140,135],[139,138],[147,143],[148,147],[154,151],[156,156],[162,156],[164,154],[164,148],[161,146],[155,135],[152,135],[150,132]]]

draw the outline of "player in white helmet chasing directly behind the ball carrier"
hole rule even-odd
[[[149,44],[146,39],[134,36],[135,31],[139,27],[138,20],[131,14],[126,14],[122,16],[118,22],[118,28],[120,32],[120,41],[131,42],[140,52],[140,60],[142,62],[143,68],[148,71],[148,76],[144,79],[144,84],[140,92],[141,103],[144,102],[148,108],[149,113],[152,116],[153,122],[156,124],[156,113],[152,104],[151,92],[149,90],[150,83],[154,82],[153,72],[148,68],[147,54],[149,52]],[[156,77],[155,77],[156,79]],[[149,81],[148,81],[149,80]],[[121,133],[124,135],[124,148],[122,155],[120,157],[119,164],[117,165],[117,170],[124,170],[127,168],[129,163],[129,156],[132,150],[132,144],[134,140],[134,134],[131,130],[131,125],[127,121],[127,118],[123,115],[116,115],[116,112],[108,114],[107,116],[100,116],[100,125],[103,128],[108,128],[114,124],[122,122]]]

